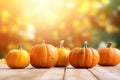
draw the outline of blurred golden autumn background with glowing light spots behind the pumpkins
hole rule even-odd
[[[0,0],[0,58],[23,43],[120,48],[120,0]]]

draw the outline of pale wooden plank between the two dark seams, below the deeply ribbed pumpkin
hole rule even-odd
[[[87,69],[67,67],[64,80],[97,80]]]

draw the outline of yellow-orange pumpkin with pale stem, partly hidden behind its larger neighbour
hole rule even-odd
[[[63,47],[64,40],[60,41],[60,48],[57,48],[58,51],[58,60],[55,66],[66,67],[69,65],[69,53],[70,49]]]

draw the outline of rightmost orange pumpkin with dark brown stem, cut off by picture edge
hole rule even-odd
[[[120,62],[120,50],[112,48],[112,42],[107,44],[107,47],[98,49],[100,54],[99,65],[114,66]]]

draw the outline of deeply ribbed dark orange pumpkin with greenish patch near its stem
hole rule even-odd
[[[75,68],[90,68],[98,64],[99,53],[93,48],[87,47],[87,41],[82,47],[75,47],[69,55],[69,62]]]

